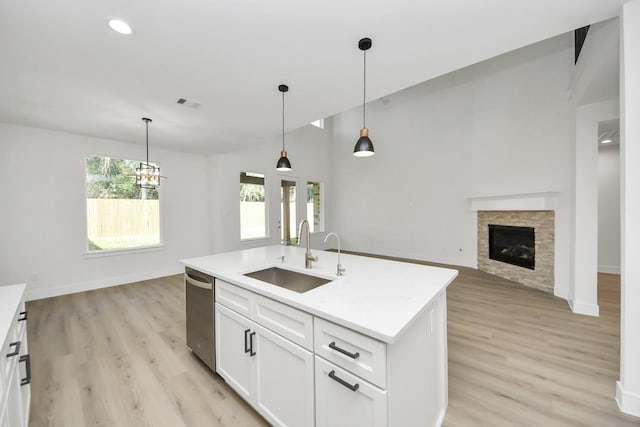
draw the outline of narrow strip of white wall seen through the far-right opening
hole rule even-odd
[[[620,274],[620,146],[598,150],[598,271]]]

